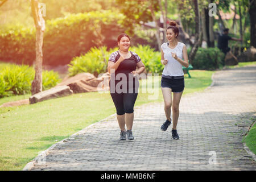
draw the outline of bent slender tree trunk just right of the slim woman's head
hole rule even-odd
[[[198,2],[197,0],[193,0],[193,3],[195,5],[195,22],[196,22],[196,37],[195,37],[195,44],[193,45],[191,52],[189,53],[189,61],[192,64],[193,63],[193,59],[196,56],[196,52],[197,49],[199,48],[199,46],[201,46],[202,44],[202,31],[201,31],[201,27],[200,27],[200,22],[199,22],[199,6],[198,6]]]

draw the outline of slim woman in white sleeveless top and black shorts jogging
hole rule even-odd
[[[161,89],[164,98],[164,111],[166,122],[161,126],[161,130],[166,131],[173,121],[172,138],[179,139],[177,134],[177,121],[179,118],[179,104],[184,90],[184,73],[182,66],[188,67],[188,54],[185,44],[178,42],[179,28],[175,21],[170,22],[166,30],[167,43],[161,46],[161,63],[164,65],[162,73]],[[173,99],[172,99],[173,93]],[[171,119],[172,108],[172,119]]]

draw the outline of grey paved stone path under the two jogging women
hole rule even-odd
[[[119,141],[115,116],[49,150],[32,170],[255,170],[242,138],[256,118],[256,65],[218,71],[214,85],[181,98],[177,131],[163,132],[163,103],[135,108],[135,140]],[[217,164],[209,164],[210,151]],[[212,161],[212,160],[211,160]]]

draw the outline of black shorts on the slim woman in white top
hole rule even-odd
[[[161,87],[168,87],[172,89],[172,92],[183,92],[185,87],[184,78],[174,79],[174,78],[164,78],[161,79]]]

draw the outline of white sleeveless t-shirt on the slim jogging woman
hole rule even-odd
[[[171,52],[175,52],[177,57],[179,59],[183,60],[183,46],[185,44],[178,42],[177,46],[174,49],[171,49],[170,47],[167,46],[167,43],[163,43],[161,48],[164,53],[164,59],[168,60],[168,63],[164,66],[164,70],[162,75],[165,76],[183,76],[183,70],[182,70],[182,65],[172,57]]]

